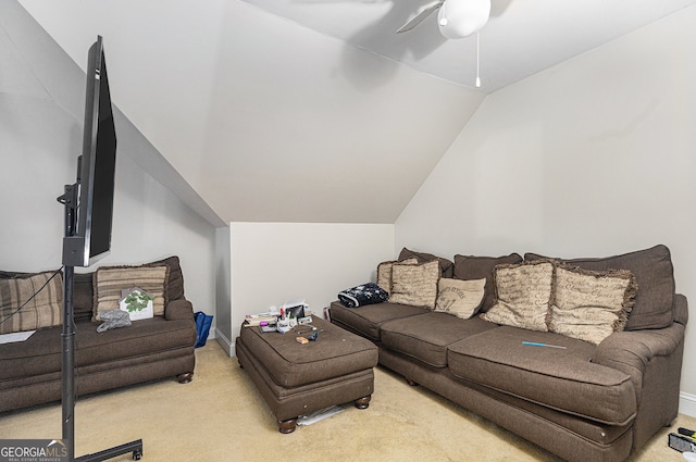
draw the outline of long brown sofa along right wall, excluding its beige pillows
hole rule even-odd
[[[399,260],[435,259],[403,249]],[[534,261],[439,259],[443,277],[486,277],[481,310],[496,302],[494,269]],[[559,260],[559,259],[557,259]],[[674,291],[670,251],[656,246],[606,259],[569,261],[625,269],[637,282],[623,332],[598,345],[554,332],[460,319],[385,302],[331,307],[332,322],[372,340],[380,363],[569,461],[623,461],[676,417],[687,301]],[[522,341],[564,348],[537,348]]]

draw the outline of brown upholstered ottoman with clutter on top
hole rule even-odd
[[[296,338],[307,337],[312,326],[318,339],[298,342]],[[281,433],[294,432],[299,415],[331,405],[355,401],[358,409],[365,409],[374,390],[377,347],[318,317],[287,334],[241,327],[236,352]]]

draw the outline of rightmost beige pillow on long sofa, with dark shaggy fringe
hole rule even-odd
[[[549,330],[598,345],[623,330],[636,291],[635,277],[627,270],[559,266]]]

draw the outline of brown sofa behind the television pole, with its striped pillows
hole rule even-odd
[[[0,272],[0,314],[4,314],[0,321],[7,320],[0,332],[38,327],[25,341],[0,345],[0,412],[61,399],[63,294],[61,274],[50,279],[52,274]],[[33,292],[47,279],[47,286],[20,311],[25,317],[8,319],[9,307],[26,299],[22,288]],[[98,308],[113,308],[110,294],[133,286],[154,298],[154,316],[98,333],[102,324]],[[73,304],[76,397],[165,377],[191,380],[196,325],[177,257],[76,273]]]

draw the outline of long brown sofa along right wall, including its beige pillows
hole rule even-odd
[[[409,294],[403,275],[420,271],[422,276],[426,265],[436,265],[438,289],[435,302],[427,299],[428,307],[423,308],[419,292],[432,297],[432,282],[417,277],[411,280],[417,294]],[[550,280],[539,276],[540,270],[551,275]],[[506,305],[535,290],[510,274],[531,275],[536,278],[532,285],[544,290],[506,317],[510,314]],[[599,288],[587,292],[569,276]],[[451,279],[476,280],[483,288],[482,301],[469,317],[452,315],[447,303],[439,303],[445,294],[442,284]],[[688,313],[686,298],[675,294],[666,246],[573,260],[512,253],[458,254],[450,261],[403,249],[396,262],[377,267],[377,280],[388,292],[387,302],[348,308],[335,301],[332,322],[372,340],[380,363],[410,384],[420,384],[566,460],[623,461],[676,417]],[[599,316],[593,311],[583,319],[592,311],[588,307],[599,303],[585,299],[568,305],[573,290],[581,299],[602,290],[622,291],[620,309]],[[473,294],[460,295],[471,302]],[[409,297],[417,303],[405,303]],[[575,316],[567,323],[559,322],[564,305],[571,307],[566,314]],[[539,308],[542,324],[537,317],[527,326],[534,315],[525,310]]]

